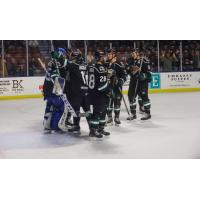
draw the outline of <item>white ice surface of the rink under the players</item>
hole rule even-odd
[[[0,101],[0,158],[200,158],[200,93],[152,94],[152,119],[126,121],[111,136],[43,134],[42,99]],[[139,117],[139,116],[138,116]]]

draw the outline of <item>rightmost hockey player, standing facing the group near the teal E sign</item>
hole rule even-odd
[[[138,49],[134,49],[128,60],[127,72],[130,75],[130,83],[128,90],[128,99],[130,104],[131,116],[127,120],[136,119],[136,97],[140,111],[144,112],[145,116],[141,120],[151,118],[150,108],[151,103],[148,97],[148,84],[151,82],[150,62],[145,57],[140,57]]]

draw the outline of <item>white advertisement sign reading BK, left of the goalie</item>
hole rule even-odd
[[[44,77],[14,77],[0,79],[0,97],[41,94]]]

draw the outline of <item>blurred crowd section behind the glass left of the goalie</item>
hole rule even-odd
[[[4,56],[2,48],[0,53],[0,77],[41,76],[44,75],[38,58],[45,60],[36,40],[28,42],[28,54],[26,41],[4,41]],[[4,65],[4,67],[3,67]],[[3,72],[4,69],[4,72]]]

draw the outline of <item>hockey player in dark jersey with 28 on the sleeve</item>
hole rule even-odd
[[[90,136],[101,138],[110,135],[104,130],[106,124],[106,111],[108,99],[107,68],[104,65],[104,52],[95,52],[94,65],[89,67],[88,86],[90,91],[90,102],[93,106],[92,118],[90,120]]]

